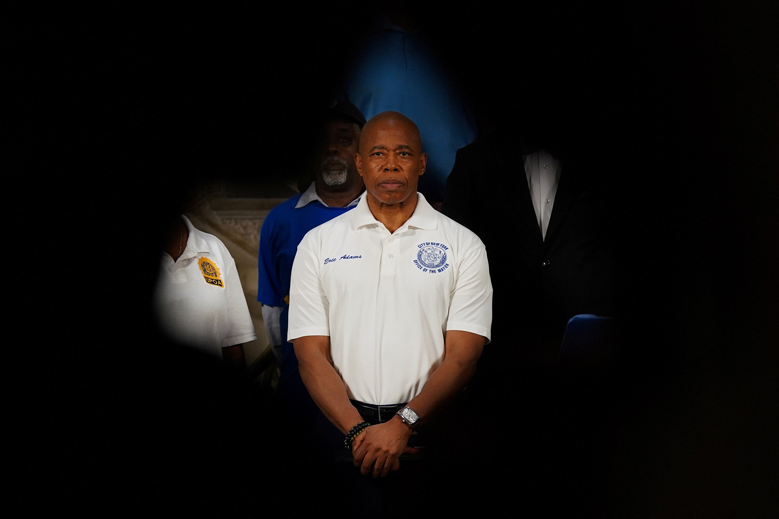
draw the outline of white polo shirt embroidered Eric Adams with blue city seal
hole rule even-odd
[[[329,335],[349,398],[414,398],[442,363],[446,330],[483,335],[492,283],[481,240],[417,193],[394,233],[357,207],[308,231],[292,267],[287,339]]]

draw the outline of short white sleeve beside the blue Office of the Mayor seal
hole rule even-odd
[[[449,299],[447,330],[470,331],[490,342],[492,327],[492,282],[485,246],[474,249],[460,263]]]

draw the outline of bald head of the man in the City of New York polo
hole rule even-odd
[[[382,112],[365,123],[354,162],[371,195],[369,204],[416,205],[427,156],[422,153],[419,128],[404,114]],[[411,195],[413,200],[408,202]]]

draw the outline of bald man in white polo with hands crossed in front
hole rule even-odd
[[[492,284],[481,240],[417,192],[427,156],[414,122],[376,115],[355,161],[367,195],[298,246],[287,338],[354,465],[376,478],[415,452],[414,428],[473,377]]]

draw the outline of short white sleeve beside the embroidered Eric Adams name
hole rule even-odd
[[[287,341],[306,335],[330,335],[330,302],[319,279],[319,261],[307,235],[292,264]]]

